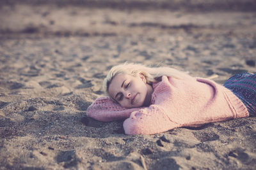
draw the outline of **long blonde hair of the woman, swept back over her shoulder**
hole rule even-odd
[[[131,76],[138,76],[143,74],[147,83],[153,83],[160,80],[161,76],[172,76],[173,78],[184,79],[188,74],[178,71],[170,67],[147,67],[142,64],[127,63],[114,66],[110,69],[106,78],[103,81],[103,90],[108,94],[108,89],[111,81],[117,74],[129,74]]]

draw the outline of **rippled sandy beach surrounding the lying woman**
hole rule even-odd
[[[0,1],[0,169],[256,169],[256,118],[127,136],[86,109],[125,61],[256,73],[256,1]]]

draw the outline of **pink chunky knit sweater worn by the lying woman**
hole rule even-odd
[[[147,108],[122,108],[109,97],[100,97],[88,107],[87,115],[102,122],[126,118],[125,134],[156,134],[249,116],[230,90],[205,78],[162,76],[153,88],[152,104]]]

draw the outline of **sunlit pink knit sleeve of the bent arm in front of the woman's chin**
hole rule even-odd
[[[167,114],[168,108],[171,107],[168,104],[169,87],[168,78],[163,76],[152,94],[154,104],[148,108],[133,111],[131,116],[124,121],[125,134],[156,134],[180,127],[180,124],[173,122]]]

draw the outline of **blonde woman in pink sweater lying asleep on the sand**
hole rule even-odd
[[[124,121],[125,134],[156,134],[176,127],[256,115],[256,74],[241,73],[224,85],[170,67],[122,64],[103,83],[109,97],[87,110],[102,122]]]

